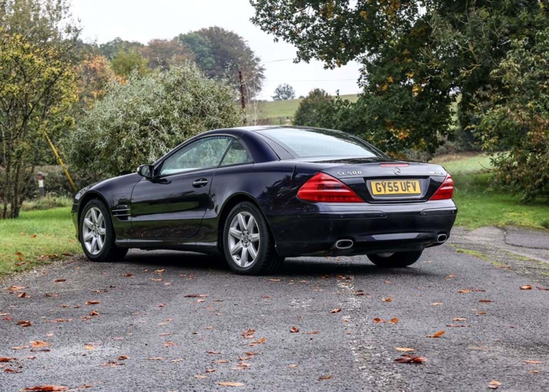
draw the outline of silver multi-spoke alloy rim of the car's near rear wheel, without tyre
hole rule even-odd
[[[240,211],[229,225],[228,244],[233,261],[246,268],[254,264],[261,244],[257,220],[248,211]]]

